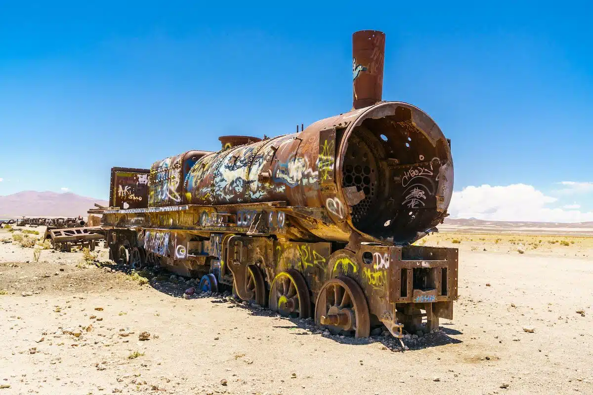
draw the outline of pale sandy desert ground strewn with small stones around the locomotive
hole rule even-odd
[[[0,230],[0,395],[593,393],[591,236],[425,237],[460,249],[459,300],[401,350],[229,296],[184,298],[192,281],[130,272],[103,248],[38,247],[36,262],[15,235]]]

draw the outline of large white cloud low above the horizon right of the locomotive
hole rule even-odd
[[[532,185],[466,187],[453,192],[449,213],[452,218],[490,221],[585,222],[593,221],[593,211],[573,207],[550,207],[557,198],[546,196]]]

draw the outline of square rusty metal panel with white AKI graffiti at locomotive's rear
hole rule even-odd
[[[148,207],[148,169],[111,168],[109,206]]]

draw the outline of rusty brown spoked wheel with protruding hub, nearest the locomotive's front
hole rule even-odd
[[[315,303],[315,324],[327,326],[334,335],[354,332],[355,338],[367,338],[371,318],[364,293],[349,277],[327,281]]]

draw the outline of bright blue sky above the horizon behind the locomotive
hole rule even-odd
[[[21,3],[0,0],[0,195],[106,198],[111,166],[347,111],[351,35],[376,29],[383,98],[452,140],[452,214],[593,220],[590,2]]]

